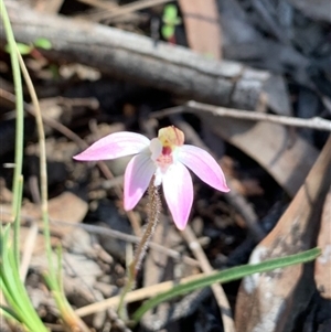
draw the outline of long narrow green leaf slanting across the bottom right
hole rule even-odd
[[[204,287],[212,286],[216,282],[229,282],[234,280],[238,280],[241,278],[254,275],[266,272],[269,270],[274,270],[277,268],[284,268],[290,265],[296,264],[303,264],[316,259],[321,254],[320,248],[313,248],[300,254],[290,255],[287,257],[281,258],[273,258],[259,264],[254,265],[243,265],[238,267],[233,267],[224,271],[215,272],[210,276],[203,276],[199,279],[186,283],[180,283],[174,286],[171,290],[166,291],[156,296],[154,298],[146,301],[135,313],[134,313],[134,321],[137,323],[141,319],[141,317],[150,309],[154,308],[156,306],[171,300],[178,296],[182,296],[194,291],[196,289],[201,289]]]

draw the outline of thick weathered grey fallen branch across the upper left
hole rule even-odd
[[[47,39],[52,50],[41,52],[57,62],[87,64],[113,77],[214,105],[256,109],[265,99],[263,86],[271,77],[267,72],[212,61],[118,29],[33,11],[19,1],[6,6],[17,40],[30,44]],[[4,44],[1,34],[0,43]]]

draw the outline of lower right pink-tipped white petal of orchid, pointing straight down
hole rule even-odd
[[[175,226],[183,231],[193,202],[193,184],[189,170],[180,162],[163,174],[163,193]]]

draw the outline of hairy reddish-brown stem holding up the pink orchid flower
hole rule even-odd
[[[127,313],[125,310],[125,297],[135,287],[137,272],[141,267],[141,263],[146,255],[148,244],[152,235],[154,234],[159,221],[161,201],[159,196],[159,189],[153,183],[154,181],[152,179],[148,189],[149,202],[148,202],[148,218],[147,218],[148,223],[146,226],[146,231],[142,235],[140,243],[137,246],[135,258],[128,266],[128,280],[121,292],[119,304],[118,304],[118,314],[122,320],[127,320]]]

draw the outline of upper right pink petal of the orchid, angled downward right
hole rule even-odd
[[[222,192],[229,191],[221,167],[209,152],[184,144],[178,148],[178,160],[212,188]]]

